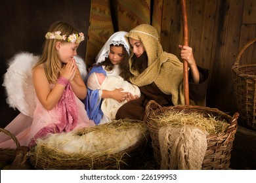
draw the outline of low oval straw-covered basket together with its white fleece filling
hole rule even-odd
[[[143,153],[148,129],[138,120],[115,120],[37,140],[32,164],[37,169],[120,169]]]

